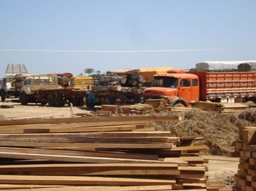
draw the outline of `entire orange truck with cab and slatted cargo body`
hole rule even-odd
[[[185,72],[168,70],[155,74],[152,87],[143,91],[146,99],[169,99],[172,107],[191,107],[199,101],[256,103],[255,72]]]

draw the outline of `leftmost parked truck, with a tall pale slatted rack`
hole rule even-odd
[[[9,97],[19,97],[22,81],[27,74],[23,63],[8,63],[6,76],[3,77],[1,83],[1,101],[5,101]],[[15,79],[15,77],[17,78]]]

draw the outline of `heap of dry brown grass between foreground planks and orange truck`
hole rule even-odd
[[[170,130],[177,137],[203,137],[203,141],[199,141],[198,144],[208,145],[209,154],[212,155],[232,152],[234,148],[227,143],[239,140],[239,127],[256,125],[256,108],[248,108],[226,116],[218,112],[202,112],[199,109],[158,114],[179,115],[183,120],[153,123],[156,130]]]

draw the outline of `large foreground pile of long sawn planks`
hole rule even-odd
[[[87,117],[0,123],[0,188],[8,190],[219,190],[207,183],[196,137],[171,137],[147,121]]]

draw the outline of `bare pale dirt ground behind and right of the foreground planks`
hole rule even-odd
[[[72,117],[75,114],[90,112],[84,107],[70,107],[66,105],[63,108],[52,108],[48,105],[40,105],[29,103],[28,105],[21,105],[17,99],[6,99],[5,102],[0,102],[0,105],[13,105],[13,108],[0,108],[0,117],[4,119],[23,119],[26,118],[64,118]],[[94,108],[93,110],[99,110]],[[0,119],[3,120],[3,119]],[[1,123],[1,121],[0,121]],[[234,177],[237,174],[239,158],[228,158],[211,155],[203,155],[205,159],[209,159],[208,179],[210,181],[223,181],[225,188],[232,188],[234,185]]]

